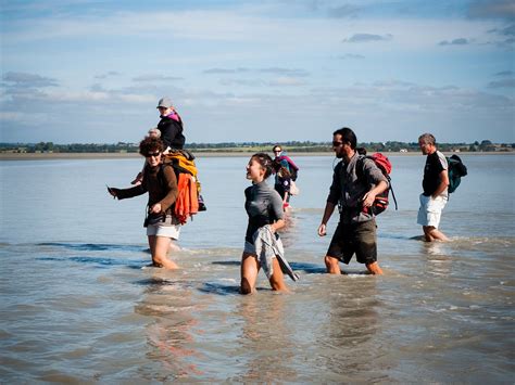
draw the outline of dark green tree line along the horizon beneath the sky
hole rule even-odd
[[[330,142],[288,141],[288,142],[222,142],[222,143],[187,143],[185,147],[192,152],[272,152],[276,144],[289,152],[331,152]],[[360,147],[367,152],[419,152],[417,142],[361,142]],[[443,152],[493,152],[515,151],[515,143],[492,143],[490,140],[474,143],[438,143]],[[0,151],[5,153],[137,153],[137,143],[0,143]]]

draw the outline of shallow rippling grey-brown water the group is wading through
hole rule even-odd
[[[238,294],[247,158],[199,158],[208,211],[183,267],[148,267],[145,197],[113,201],[139,159],[0,164],[2,382],[512,383],[515,156],[463,156],[447,244],[417,241],[423,156],[391,156],[399,201],[378,218],[370,277],[324,273],[316,236],[331,157],[298,157],[282,240],[291,294]],[[336,216],[335,216],[336,217]],[[329,223],[331,234],[336,218]]]

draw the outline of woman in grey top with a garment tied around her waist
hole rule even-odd
[[[260,230],[266,229],[275,239],[274,242],[280,247],[277,230],[285,227],[282,200],[277,191],[272,189],[265,181],[272,175],[273,161],[264,153],[252,155],[247,165],[247,179],[252,185],[247,188],[244,208],[249,215],[249,224],[246,233],[246,244],[241,257],[241,294],[255,292],[255,281],[262,262],[258,257],[254,240]],[[288,291],[284,274],[276,257],[265,272],[269,271],[268,280],[274,291]]]

